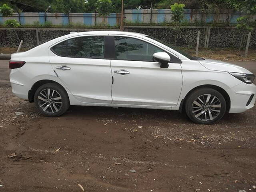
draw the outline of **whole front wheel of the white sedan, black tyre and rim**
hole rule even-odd
[[[185,103],[186,114],[198,124],[213,124],[226,112],[226,100],[212,88],[199,88],[192,92]]]

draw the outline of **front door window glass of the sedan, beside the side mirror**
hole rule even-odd
[[[153,54],[162,49],[130,37],[115,36],[116,59],[134,61],[153,61]]]

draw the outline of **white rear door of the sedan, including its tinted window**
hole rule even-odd
[[[49,50],[52,68],[74,97],[85,103],[111,103],[112,74],[104,35],[79,36]]]

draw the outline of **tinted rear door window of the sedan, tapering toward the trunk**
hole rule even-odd
[[[84,36],[63,41],[52,51],[59,56],[77,58],[104,58],[104,36]]]

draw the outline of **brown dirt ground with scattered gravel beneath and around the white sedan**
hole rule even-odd
[[[8,74],[0,60],[0,191],[256,192],[256,107],[215,125],[135,108],[47,118],[12,94]]]

